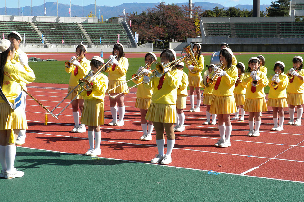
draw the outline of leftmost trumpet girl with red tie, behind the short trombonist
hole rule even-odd
[[[83,44],[79,44],[76,47],[76,57],[71,57],[71,60],[73,62],[71,63],[71,67],[65,66],[65,71],[67,73],[70,73],[70,80],[69,80],[69,88],[68,88],[68,94],[75,88],[75,86],[78,85],[78,80],[86,76],[90,71],[90,61],[85,57],[85,54],[87,53],[87,47]],[[79,57],[79,60],[76,60],[76,58]],[[76,88],[66,99],[72,100],[74,97],[76,97],[78,88]],[[78,108],[80,109],[80,112],[82,113],[83,110],[83,98],[78,95],[76,99],[73,100],[72,104],[72,112],[73,112],[73,118],[75,122],[75,126],[72,129],[71,132],[77,132],[77,133],[84,133],[86,131],[86,127],[84,124],[79,125],[79,112]]]

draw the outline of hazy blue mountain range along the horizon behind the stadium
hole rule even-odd
[[[218,6],[219,8],[227,9],[218,3],[208,3],[208,2],[196,2],[193,3],[196,6],[201,6],[204,10],[212,10],[214,7]],[[53,2],[46,2],[46,14],[47,16],[57,16],[57,3]],[[123,15],[123,9],[126,10],[126,13],[135,13],[137,12],[140,14],[143,11],[146,11],[148,8],[155,8],[155,5],[158,3],[123,3],[119,6],[97,6],[96,5],[96,17],[98,16],[98,11],[100,10],[100,17],[103,15],[103,18],[110,18],[110,17],[118,17]],[[188,5],[187,2],[185,3],[177,3],[176,5]],[[3,4],[2,4],[3,6]],[[266,11],[266,7],[270,5],[260,5],[260,10]],[[58,3],[58,16],[68,17],[69,16],[69,7],[68,4],[61,4]],[[239,8],[241,10],[247,9],[251,10],[252,5],[236,5],[235,8]],[[20,8],[20,16],[22,15],[22,9]],[[18,8],[6,8],[7,15],[18,15]],[[87,6],[79,6],[79,5],[72,5],[71,6],[71,16],[72,17],[82,17],[88,16],[89,13],[92,11],[95,14],[95,4],[90,4]],[[83,15],[82,15],[83,14]],[[0,15],[5,15],[5,8],[0,8]],[[23,15],[31,16],[31,7],[26,6],[23,8]],[[41,6],[34,6],[33,7],[33,16],[44,16],[44,4]]]

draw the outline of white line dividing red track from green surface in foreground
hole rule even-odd
[[[62,153],[62,154],[72,154],[72,155],[78,155],[78,156],[85,156],[84,154],[74,154],[74,153],[68,153],[68,152],[59,152],[59,151],[47,150],[47,149],[37,149],[37,148],[24,147],[24,146],[18,146],[18,147],[27,148],[27,149],[41,150],[41,151],[50,151],[50,152],[56,152],[56,153]],[[117,161],[126,161],[126,162],[132,162],[132,163],[143,163],[143,164],[147,164],[147,165],[151,165],[151,166],[165,166],[165,167],[171,167],[171,168],[181,168],[181,169],[186,169],[186,170],[196,170],[196,171],[210,172],[209,170],[203,170],[203,169],[184,168],[184,167],[178,167],[178,166],[161,165],[161,164],[155,164],[155,163],[145,163],[145,162],[122,160],[122,159],[116,159],[116,158],[106,158],[106,157],[99,157],[99,156],[96,156],[95,158],[103,158],[103,159],[117,160]],[[262,179],[269,179],[269,180],[279,180],[279,181],[304,183],[302,181],[283,180],[283,179],[276,179],[276,178],[270,178],[270,177],[259,177],[259,176],[252,176],[252,175],[240,175],[240,174],[228,173],[228,172],[217,172],[217,173],[228,174],[228,175],[236,175],[236,176],[243,176],[243,177],[255,177],[255,178],[262,178]]]

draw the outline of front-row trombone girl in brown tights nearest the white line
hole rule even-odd
[[[160,54],[160,60],[164,64],[176,59],[176,53],[172,49],[165,49]],[[173,124],[176,123],[176,99],[177,88],[181,84],[182,72],[175,67],[165,68],[163,76],[144,76],[145,87],[152,88],[152,103],[148,109],[146,119],[152,121],[156,132],[156,145],[158,154],[151,163],[169,164],[172,161],[171,153],[175,144]],[[165,139],[167,136],[167,153],[164,153]]]

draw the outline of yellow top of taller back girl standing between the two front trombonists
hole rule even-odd
[[[115,69],[114,71],[111,68],[107,68],[107,70],[105,72],[109,72],[108,74],[108,79],[109,80],[121,80],[121,81],[125,81],[126,80],[126,74],[129,68],[129,61],[127,58],[122,57],[119,59],[119,65],[115,65]]]

